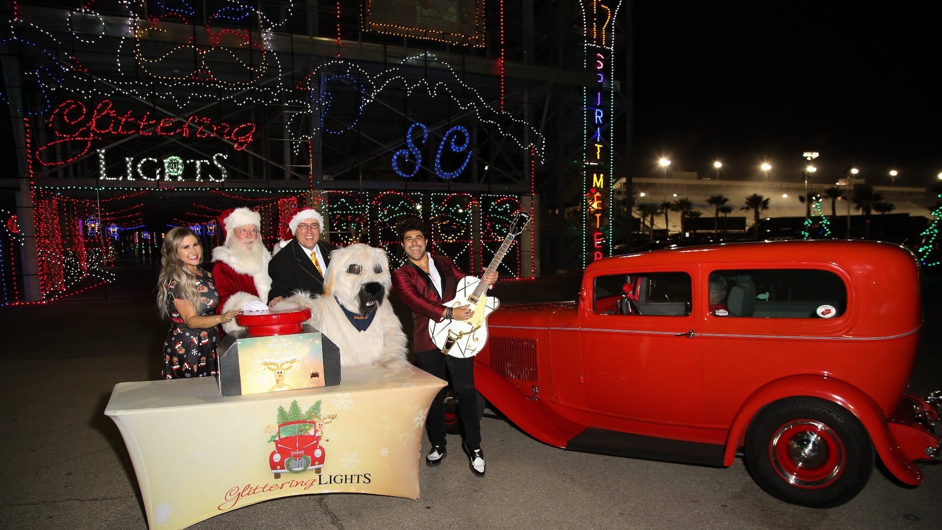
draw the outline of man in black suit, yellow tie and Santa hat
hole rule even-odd
[[[291,218],[288,227],[294,239],[268,262],[268,306],[299,290],[312,296],[324,291],[324,273],[337,247],[320,241],[323,226],[324,218],[314,208],[304,208]]]

